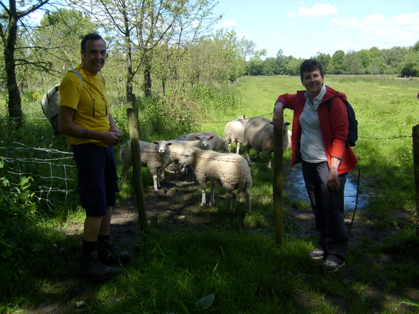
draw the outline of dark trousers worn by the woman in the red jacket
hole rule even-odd
[[[328,163],[302,162],[302,176],[314,210],[318,232],[317,248],[325,251],[328,260],[341,264],[348,250],[348,232],[344,221],[344,190],[346,174],[338,177],[339,188],[328,187]]]

